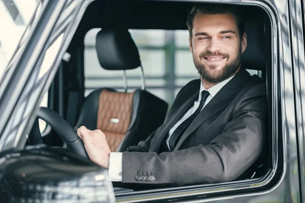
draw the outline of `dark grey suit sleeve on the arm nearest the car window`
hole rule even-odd
[[[123,153],[123,183],[187,185],[238,178],[259,158],[266,136],[266,96],[258,88],[235,104],[232,120],[210,145],[160,154]],[[154,178],[137,180],[141,175]]]

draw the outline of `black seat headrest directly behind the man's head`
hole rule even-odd
[[[265,38],[264,20],[248,19],[245,22],[247,48],[241,55],[241,65],[251,70],[266,70],[268,45]]]

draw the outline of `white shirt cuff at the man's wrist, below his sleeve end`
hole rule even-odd
[[[109,157],[110,181],[122,181],[122,152],[111,152]]]

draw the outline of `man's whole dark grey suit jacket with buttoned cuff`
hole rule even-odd
[[[260,157],[266,137],[266,84],[245,69],[209,101],[174,151],[168,152],[164,144],[168,131],[198,99],[199,88],[200,80],[183,87],[164,124],[123,153],[122,183],[226,182],[238,178]]]

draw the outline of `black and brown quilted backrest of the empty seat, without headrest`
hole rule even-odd
[[[85,98],[74,129],[82,125],[90,130],[101,129],[110,149],[124,152],[129,146],[145,140],[163,123],[167,108],[164,100],[146,90],[125,93],[100,88]],[[112,123],[111,118],[117,118],[119,122]]]

